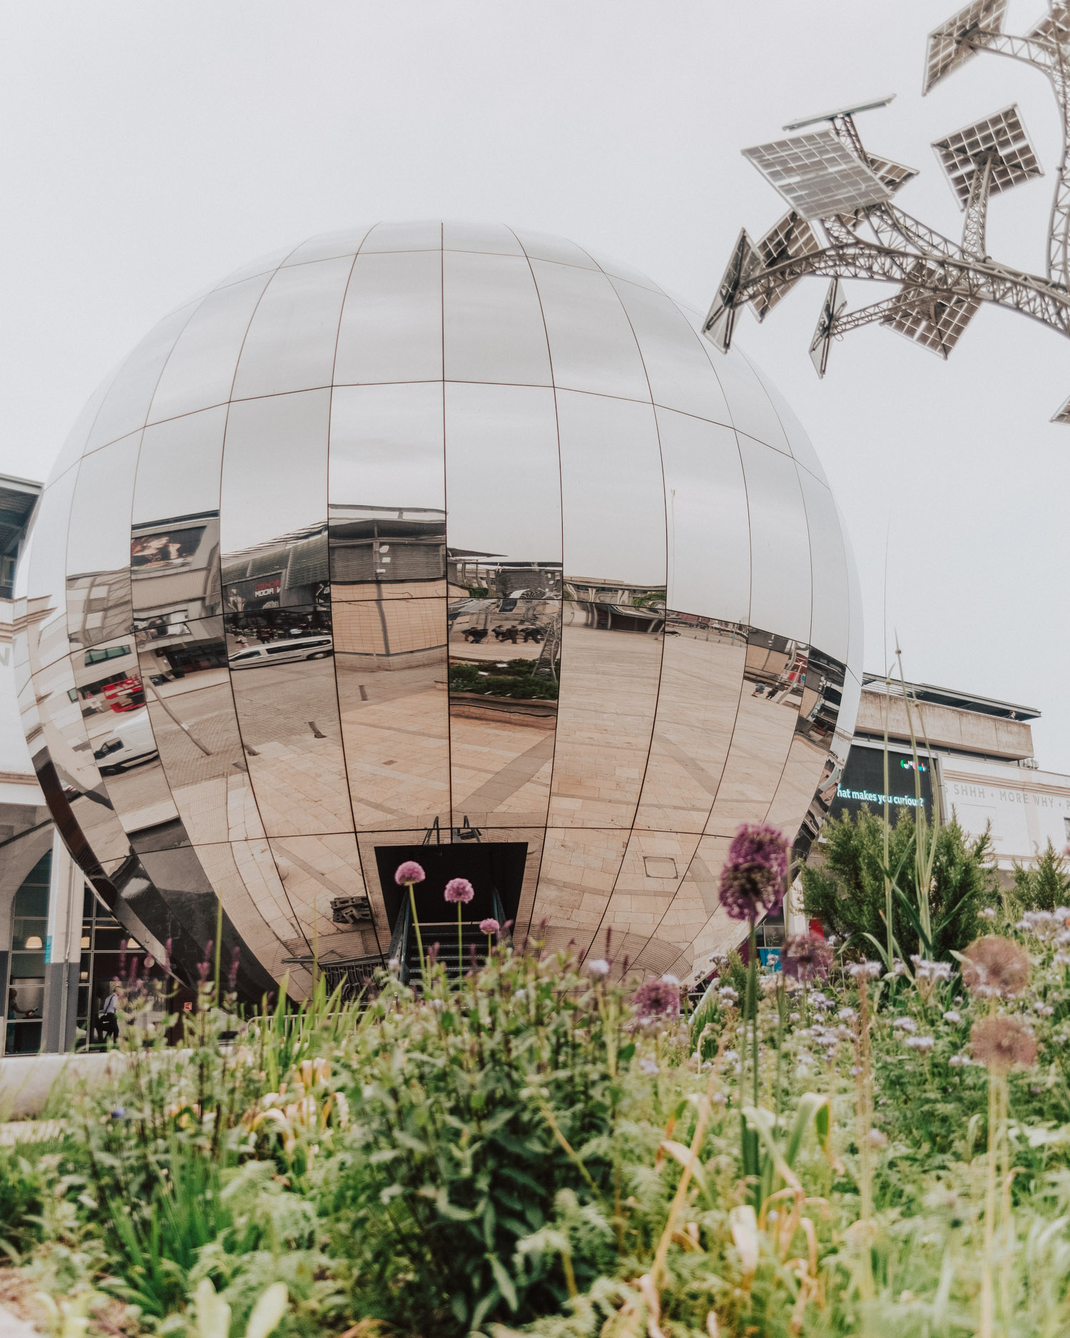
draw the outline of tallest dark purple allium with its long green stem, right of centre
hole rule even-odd
[[[780,906],[784,880],[788,874],[788,842],[776,827],[744,823],[732,839],[728,859],[721,870],[720,896],[725,913],[737,921],[746,921],[748,967],[744,1025],[750,1024],[750,1066],[754,1105],[758,1105],[758,935],[757,923]],[[744,1053],[746,1053],[744,1048]],[[740,1074],[742,1089],[745,1074]],[[740,1112],[744,1173],[754,1176],[754,1195],[761,1208],[758,1184],[758,1131],[749,1129],[746,1116]]]

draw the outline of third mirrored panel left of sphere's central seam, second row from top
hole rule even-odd
[[[148,421],[226,404],[249,322],[272,272],[209,293],[175,341]],[[163,514],[163,512],[162,512]]]

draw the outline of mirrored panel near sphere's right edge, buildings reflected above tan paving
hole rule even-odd
[[[736,728],[706,823],[709,835],[732,836],[740,823],[764,822],[794,739],[805,674],[804,642],[749,630]]]

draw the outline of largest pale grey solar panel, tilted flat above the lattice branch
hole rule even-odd
[[[833,218],[891,198],[880,177],[832,130],[744,149],[744,158],[801,218]]]

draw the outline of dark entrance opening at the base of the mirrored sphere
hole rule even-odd
[[[516,921],[524,882],[527,842],[473,840],[443,846],[376,847],[383,902],[392,930],[389,955],[399,962],[405,979],[420,974],[408,888],[399,887],[393,878],[399,864],[408,859],[416,860],[427,875],[424,882],[415,887],[424,951],[437,943],[437,958],[451,975],[468,967],[472,953],[476,961],[481,961],[487,953],[487,938],[480,933],[480,921],[496,919],[503,930],[507,922]],[[472,900],[461,906],[460,955],[457,907],[447,902],[443,895],[451,878],[467,878],[475,891]]]

